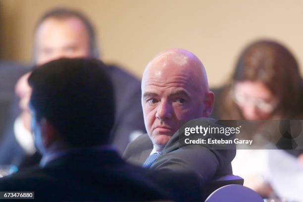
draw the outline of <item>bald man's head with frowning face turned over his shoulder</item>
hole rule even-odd
[[[165,146],[181,124],[208,117],[213,93],[200,59],[182,49],[157,54],[143,74],[142,106],[145,126],[158,147]]]

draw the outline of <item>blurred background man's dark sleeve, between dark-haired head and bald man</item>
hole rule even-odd
[[[108,73],[113,82],[116,105],[111,143],[122,154],[133,132],[146,131],[141,106],[141,83],[115,65],[108,65]]]

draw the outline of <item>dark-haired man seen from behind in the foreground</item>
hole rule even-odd
[[[179,176],[130,165],[109,146],[114,101],[105,68],[97,60],[63,58],[31,73],[31,127],[43,158],[40,167],[1,178],[0,191],[35,192],[37,201],[170,199]]]

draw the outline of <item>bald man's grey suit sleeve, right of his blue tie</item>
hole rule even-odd
[[[212,122],[214,119],[205,119]],[[194,120],[199,122],[200,119]],[[209,122],[209,123],[210,123]],[[210,123],[211,124],[211,123]],[[162,151],[162,154],[152,164],[151,169],[196,172],[203,182],[232,174],[231,161],[236,155],[235,147],[213,149],[207,145],[187,145],[180,148],[179,132],[176,132]]]

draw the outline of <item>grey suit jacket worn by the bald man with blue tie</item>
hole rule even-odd
[[[214,124],[214,119],[202,118]],[[200,120],[200,119],[195,119]],[[207,127],[207,125],[205,126]],[[123,158],[128,162],[142,165],[152,152],[152,141],[148,134],[138,137],[126,148]],[[231,161],[236,155],[235,147],[218,146],[220,150],[201,145],[179,147],[179,132],[177,131],[164,147],[161,155],[152,164],[151,169],[171,171],[194,171],[206,183],[211,179],[232,174]]]

